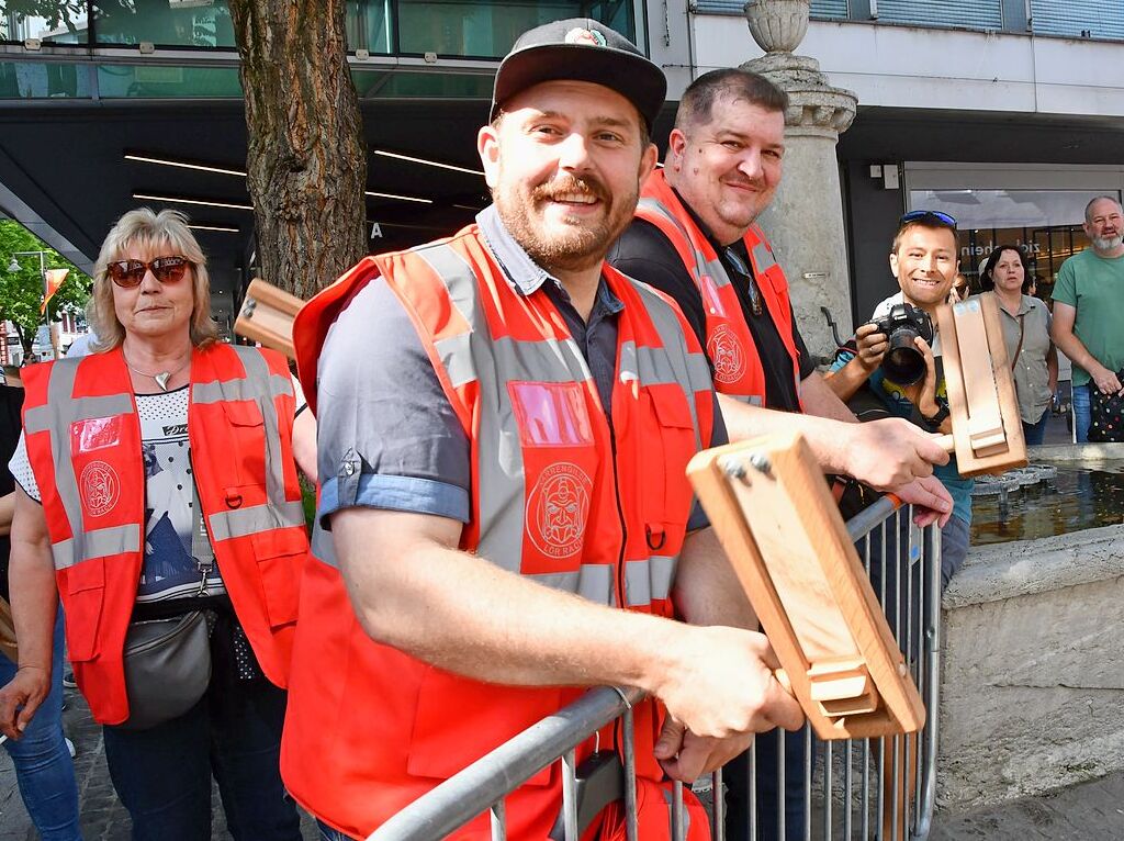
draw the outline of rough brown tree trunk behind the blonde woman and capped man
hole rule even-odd
[[[344,0],[230,0],[265,280],[309,298],[366,254],[366,146]]]

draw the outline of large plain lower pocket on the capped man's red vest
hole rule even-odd
[[[496,686],[427,669],[418,688],[406,770],[415,777],[448,779],[561,706],[558,687]],[[551,769],[526,785],[549,785]]]

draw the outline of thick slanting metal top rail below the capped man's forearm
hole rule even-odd
[[[442,781],[425,797],[390,817],[368,837],[368,841],[444,838],[617,718],[626,712],[626,703],[635,704],[643,697],[644,694],[635,688],[591,689],[570,706],[478,759],[464,771]]]

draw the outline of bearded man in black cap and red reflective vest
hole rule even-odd
[[[365,837],[582,687],[637,686],[669,713],[634,711],[645,839],[668,833],[664,774],[803,720],[740,630],[683,476],[725,440],[706,361],[665,298],[604,264],[664,84],[596,21],[525,34],[479,133],[495,204],[298,317],[321,488],[282,772],[328,839]],[[508,837],[556,833],[560,805],[555,765],[506,801]],[[487,817],[456,837],[489,838]]]

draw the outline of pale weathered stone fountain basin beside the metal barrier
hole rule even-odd
[[[1124,462],[1124,444],[1030,458],[1104,467]],[[942,808],[1124,769],[1122,617],[1124,525],[972,548],[943,598]]]

